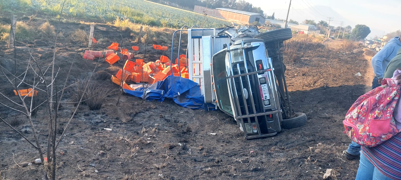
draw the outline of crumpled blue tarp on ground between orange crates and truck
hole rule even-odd
[[[146,85],[134,85],[134,91],[124,89],[124,92],[143,99],[144,89],[146,89],[145,99],[148,101],[157,100],[163,102],[165,98],[172,98],[175,103],[182,107],[191,109],[204,109],[205,101],[201,95],[198,83],[179,76],[169,75],[163,81],[146,87]]]

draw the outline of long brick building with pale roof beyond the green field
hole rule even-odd
[[[266,20],[266,18],[261,14],[227,8],[210,9],[203,6],[195,6],[194,12],[222,18],[225,20],[231,20],[242,24],[251,24],[255,21],[259,22],[260,24],[265,24]]]

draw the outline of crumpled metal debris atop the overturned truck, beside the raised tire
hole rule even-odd
[[[231,40],[235,41],[237,38],[244,39],[244,38],[253,38],[259,34],[259,30],[257,26],[250,25],[250,26],[227,26],[223,30],[221,30],[217,35],[227,35],[231,38]]]

